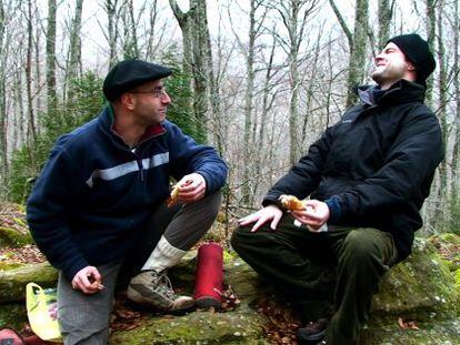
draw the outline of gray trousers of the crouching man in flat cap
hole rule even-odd
[[[114,290],[136,274],[156,247],[161,235],[183,251],[193,246],[211,227],[222,201],[220,192],[188,205],[157,210],[138,240],[138,245],[124,262],[97,266],[104,290],[92,295],[74,291],[70,282],[59,274],[58,319],[66,345],[107,344]],[[123,285],[123,284],[122,284]]]

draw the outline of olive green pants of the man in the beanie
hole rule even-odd
[[[314,233],[284,215],[251,233],[238,229],[232,247],[262,277],[292,300],[303,322],[332,316],[328,344],[358,344],[369,317],[372,295],[396,263],[390,233],[377,229],[329,227]]]

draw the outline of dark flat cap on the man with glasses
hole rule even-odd
[[[132,90],[148,81],[159,80],[171,74],[167,67],[130,59],[117,63],[107,74],[102,91],[106,98],[113,102],[120,94]]]

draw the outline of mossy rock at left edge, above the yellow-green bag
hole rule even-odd
[[[21,302],[26,298],[26,285],[30,282],[42,287],[54,287],[58,272],[49,263],[24,264],[0,271],[0,303]]]

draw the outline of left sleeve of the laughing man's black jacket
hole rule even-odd
[[[304,199],[318,186],[333,141],[334,128],[328,128],[309,149],[308,154],[300,159],[290,171],[282,176],[263,197],[262,205],[279,204],[281,194],[296,195]]]

